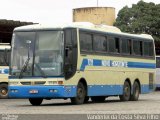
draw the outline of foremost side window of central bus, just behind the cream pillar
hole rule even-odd
[[[80,33],[80,47],[84,51],[92,51],[92,35]]]

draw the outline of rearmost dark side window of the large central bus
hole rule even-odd
[[[144,42],[144,55],[153,56],[153,43],[152,42]]]

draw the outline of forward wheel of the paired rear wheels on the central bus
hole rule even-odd
[[[131,96],[131,87],[128,81],[125,81],[123,86],[123,94],[119,96],[121,101],[128,101]]]

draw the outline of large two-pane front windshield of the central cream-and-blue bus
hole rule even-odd
[[[62,31],[15,32],[10,74],[16,77],[63,75]]]

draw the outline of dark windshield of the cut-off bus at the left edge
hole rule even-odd
[[[9,66],[10,50],[0,50],[0,66]]]

